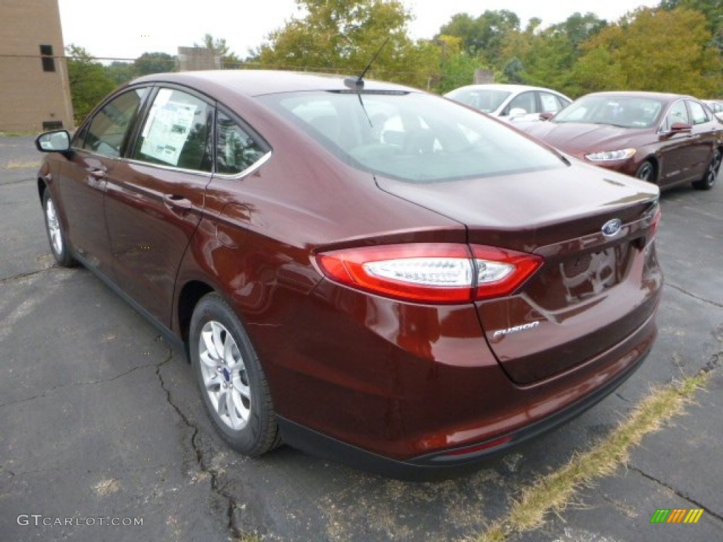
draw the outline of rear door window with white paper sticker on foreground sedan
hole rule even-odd
[[[133,158],[194,171],[211,171],[213,107],[180,90],[162,88],[136,142]]]

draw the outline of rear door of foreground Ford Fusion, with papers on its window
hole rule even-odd
[[[106,219],[122,290],[168,326],[176,272],[204,208],[215,103],[161,87],[108,178]]]

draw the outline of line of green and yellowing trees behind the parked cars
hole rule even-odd
[[[469,85],[476,69],[497,82],[551,87],[576,98],[597,90],[653,90],[700,98],[723,96],[723,2],[661,0],[609,22],[574,13],[525,27],[507,9],[455,14],[429,39],[414,40],[414,15],[400,1],[296,0],[303,17],[286,22],[241,59],[226,40],[202,43],[224,69],[300,69],[358,74],[385,40],[367,77],[445,93]],[[105,65],[67,48],[73,106],[80,121],[104,95],[134,77],[177,69],[166,53]]]

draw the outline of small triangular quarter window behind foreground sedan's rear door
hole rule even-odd
[[[225,113],[216,117],[216,171],[218,173],[241,173],[265,155],[267,150],[257,144],[238,124]]]

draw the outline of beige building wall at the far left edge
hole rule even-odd
[[[58,0],[3,0],[1,12],[0,132],[40,132],[58,122],[72,129]],[[54,72],[43,71],[41,45],[52,47]]]

